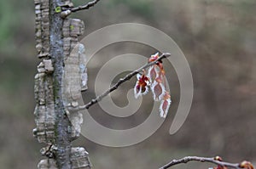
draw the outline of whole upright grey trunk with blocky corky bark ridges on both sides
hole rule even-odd
[[[70,0],[35,0],[36,48],[42,60],[35,76],[33,134],[46,144],[41,154],[47,157],[39,169],[90,168],[86,150],[71,144],[79,138],[81,111],[67,109],[79,106],[87,87],[84,45],[78,40],[84,22],[61,16],[62,8],[72,7]]]

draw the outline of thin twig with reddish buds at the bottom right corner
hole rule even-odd
[[[189,161],[200,161],[200,162],[209,162],[218,165],[217,169],[227,169],[227,167],[235,168],[235,169],[253,169],[253,165],[248,161],[242,161],[239,163],[229,163],[224,162],[219,156],[214,158],[207,157],[198,157],[198,156],[187,156],[179,160],[172,160],[165,166],[160,167],[160,169],[170,168],[171,166],[176,166],[178,164],[187,163]]]

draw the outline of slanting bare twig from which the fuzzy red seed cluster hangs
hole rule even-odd
[[[123,82],[129,81],[131,79],[132,76],[136,76],[139,72],[141,72],[142,70],[150,67],[151,65],[155,65],[158,62],[160,62],[162,59],[164,58],[168,58],[170,57],[171,54],[169,53],[164,53],[162,55],[160,55],[160,57],[156,60],[154,60],[154,62],[149,62],[146,65],[143,65],[143,67],[132,71],[131,73],[129,73],[128,75],[126,75],[124,78],[119,79],[119,82],[115,83],[113,85],[113,87],[110,87],[106,92],[102,93],[101,95],[97,96],[96,99],[92,99],[88,104],[84,104],[81,105],[79,107],[70,107],[70,110],[84,110],[84,109],[89,109],[91,105],[96,104],[97,102],[101,101],[103,98],[105,98],[109,93],[112,93],[114,90],[116,90]]]

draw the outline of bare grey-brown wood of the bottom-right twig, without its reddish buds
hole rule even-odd
[[[216,157],[215,158],[207,158],[207,157],[198,157],[198,156],[186,156],[179,160],[172,160],[165,166],[160,167],[160,169],[166,169],[171,166],[175,166],[177,164],[187,163],[189,161],[209,162],[209,163],[216,164],[218,166],[226,166],[226,167],[236,168],[236,169],[242,168],[241,165],[238,163],[229,163],[229,162],[224,162],[224,161],[218,161],[218,160],[216,160]]]

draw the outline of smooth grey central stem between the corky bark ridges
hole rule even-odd
[[[62,99],[62,76],[64,72],[63,38],[62,27],[63,19],[60,13],[55,13],[55,8],[63,5],[62,0],[51,0],[49,3],[49,55],[52,58],[54,73],[54,100],[55,100],[55,152],[56,162],[59,168],[71,168],[71,123],[65,113]]]

